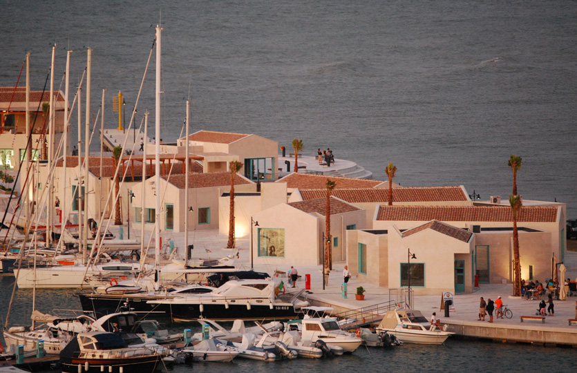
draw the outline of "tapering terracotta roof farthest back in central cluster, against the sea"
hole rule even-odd
[[[310,173],[291,173],[277,182],[286,182],[287,188],[299,189],[326,189],[327,179],[337,182],[334,189],[374,188],[382,182],[355,178],[337,178],[335,176],[312,175]]]

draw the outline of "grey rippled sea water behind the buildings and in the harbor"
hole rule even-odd
[[[17,84],[31,52],[31,88],[42,90],[57,44],[55,87],[64,91],[66,50],[74,50],[73,92],[92,48],[91,113],[96,117],[105,89],[107,128],[117,126],[113,95],[122,91],[130,111],[135,105],[160,23],[164,142],[180,137],[189,98],[191,132],[255,133],[289,147],[296,137],[308,155],[329,147],[375,179],[386,180],[384,168],[394,162],[402,186],[462,184],[482,199],[511,193],[507,161],[516,154],[523,159],[519,193],[565,202],[567,217],[577,218],[575,1],[3,0],[0,6],[0,86]],[[154,75],[153,54],[137,126],[146,110],[153,124]],[[1,282],[1,318],[12,280]],[[43,312],[79,307],[72,291],[40,294]],[[17,291],[12,321],[28,322],[30,296]],[[572,350],[448,341],[361,349],[333,361],[239,361],[202,370],[569,372],[574,361]]]

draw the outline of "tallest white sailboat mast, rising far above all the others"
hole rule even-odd
[[[155,185],[156,185],[156,204],[155,204],[155,270],[154,287],[158,290],[160,280],[160,57],[161,44],[160,37],[162,28],[156,27],[156,99],[155,99]]]

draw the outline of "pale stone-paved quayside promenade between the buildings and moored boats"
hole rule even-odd
[[[184,233],[174,233],[171,236],[176,247],[184,247]],[[235,249],[225,249],[227,236],[218,231],[195,231],[189,233],[189,243],[194,245],[193,257],[199,258],[222,258],[226,255],[239,253],[240,258],[235,259],[235,265],[239,269],[250,269],[250,246],[248,238],[240,238],[236,241]],[[321,266],[296,267],[301,278],[297,281],[297,289],[287,288],[287,291],[299,291],[305,288],[305,275],[310,274],[311,289],[303,294],[312,305],[327,306],[334,309],[334,313],[345,312],[361,307],[370,307],[381,303],[387,303],[392,299],[389,289],[377,287],[368,283],[359,283],[353,276],[348,283],[348,297],[345,299],[341,294],[342,272],[345,262],[334,263],[333,270],[329,275],[328,285],[323,290]],[[565,254],[565,266],[567,267],[566,278],[577,278],[577,252],[567,251]],[[277,266],[255,265],[256,271],[265,271],[274,274],[275,271],[287,271],[290,265]],[[538,280],[545,281],[545,278]],[[362,286],[366,289],[365,300],[356,300],[354,294],[356,288]],[[525,300],[524,298],[510,297],[512,285],[481,284],[470,294],[456,294],[454,297],[455,310],[451,311],[450,317],[444,317],[444,311],[440,309],[442,294],[435,296],[415,296],[414,309],[418,309],[426,318],[430,318],[433,312],[442,323],[447,323],[449,331],[465,338],[490,339],[494,341],[537,343],[544,345],[571,345],[577,347],[577,325],[569,326],[568,319],[575,317],[575,305],[577,296],[569,296],[567,300],[555,300],[555,316],[546,316],[545,323],[541,321],[520,321],[520,316],[535,316],[538,308],[538,300]],[[495,318],[489,323],[489,316],[485,321],[477,321],[480,297],[485,300],[496,300],[502,297],[503,303],[511,309],[513,317]],[[386,312],[386,311],[383,311]]]

